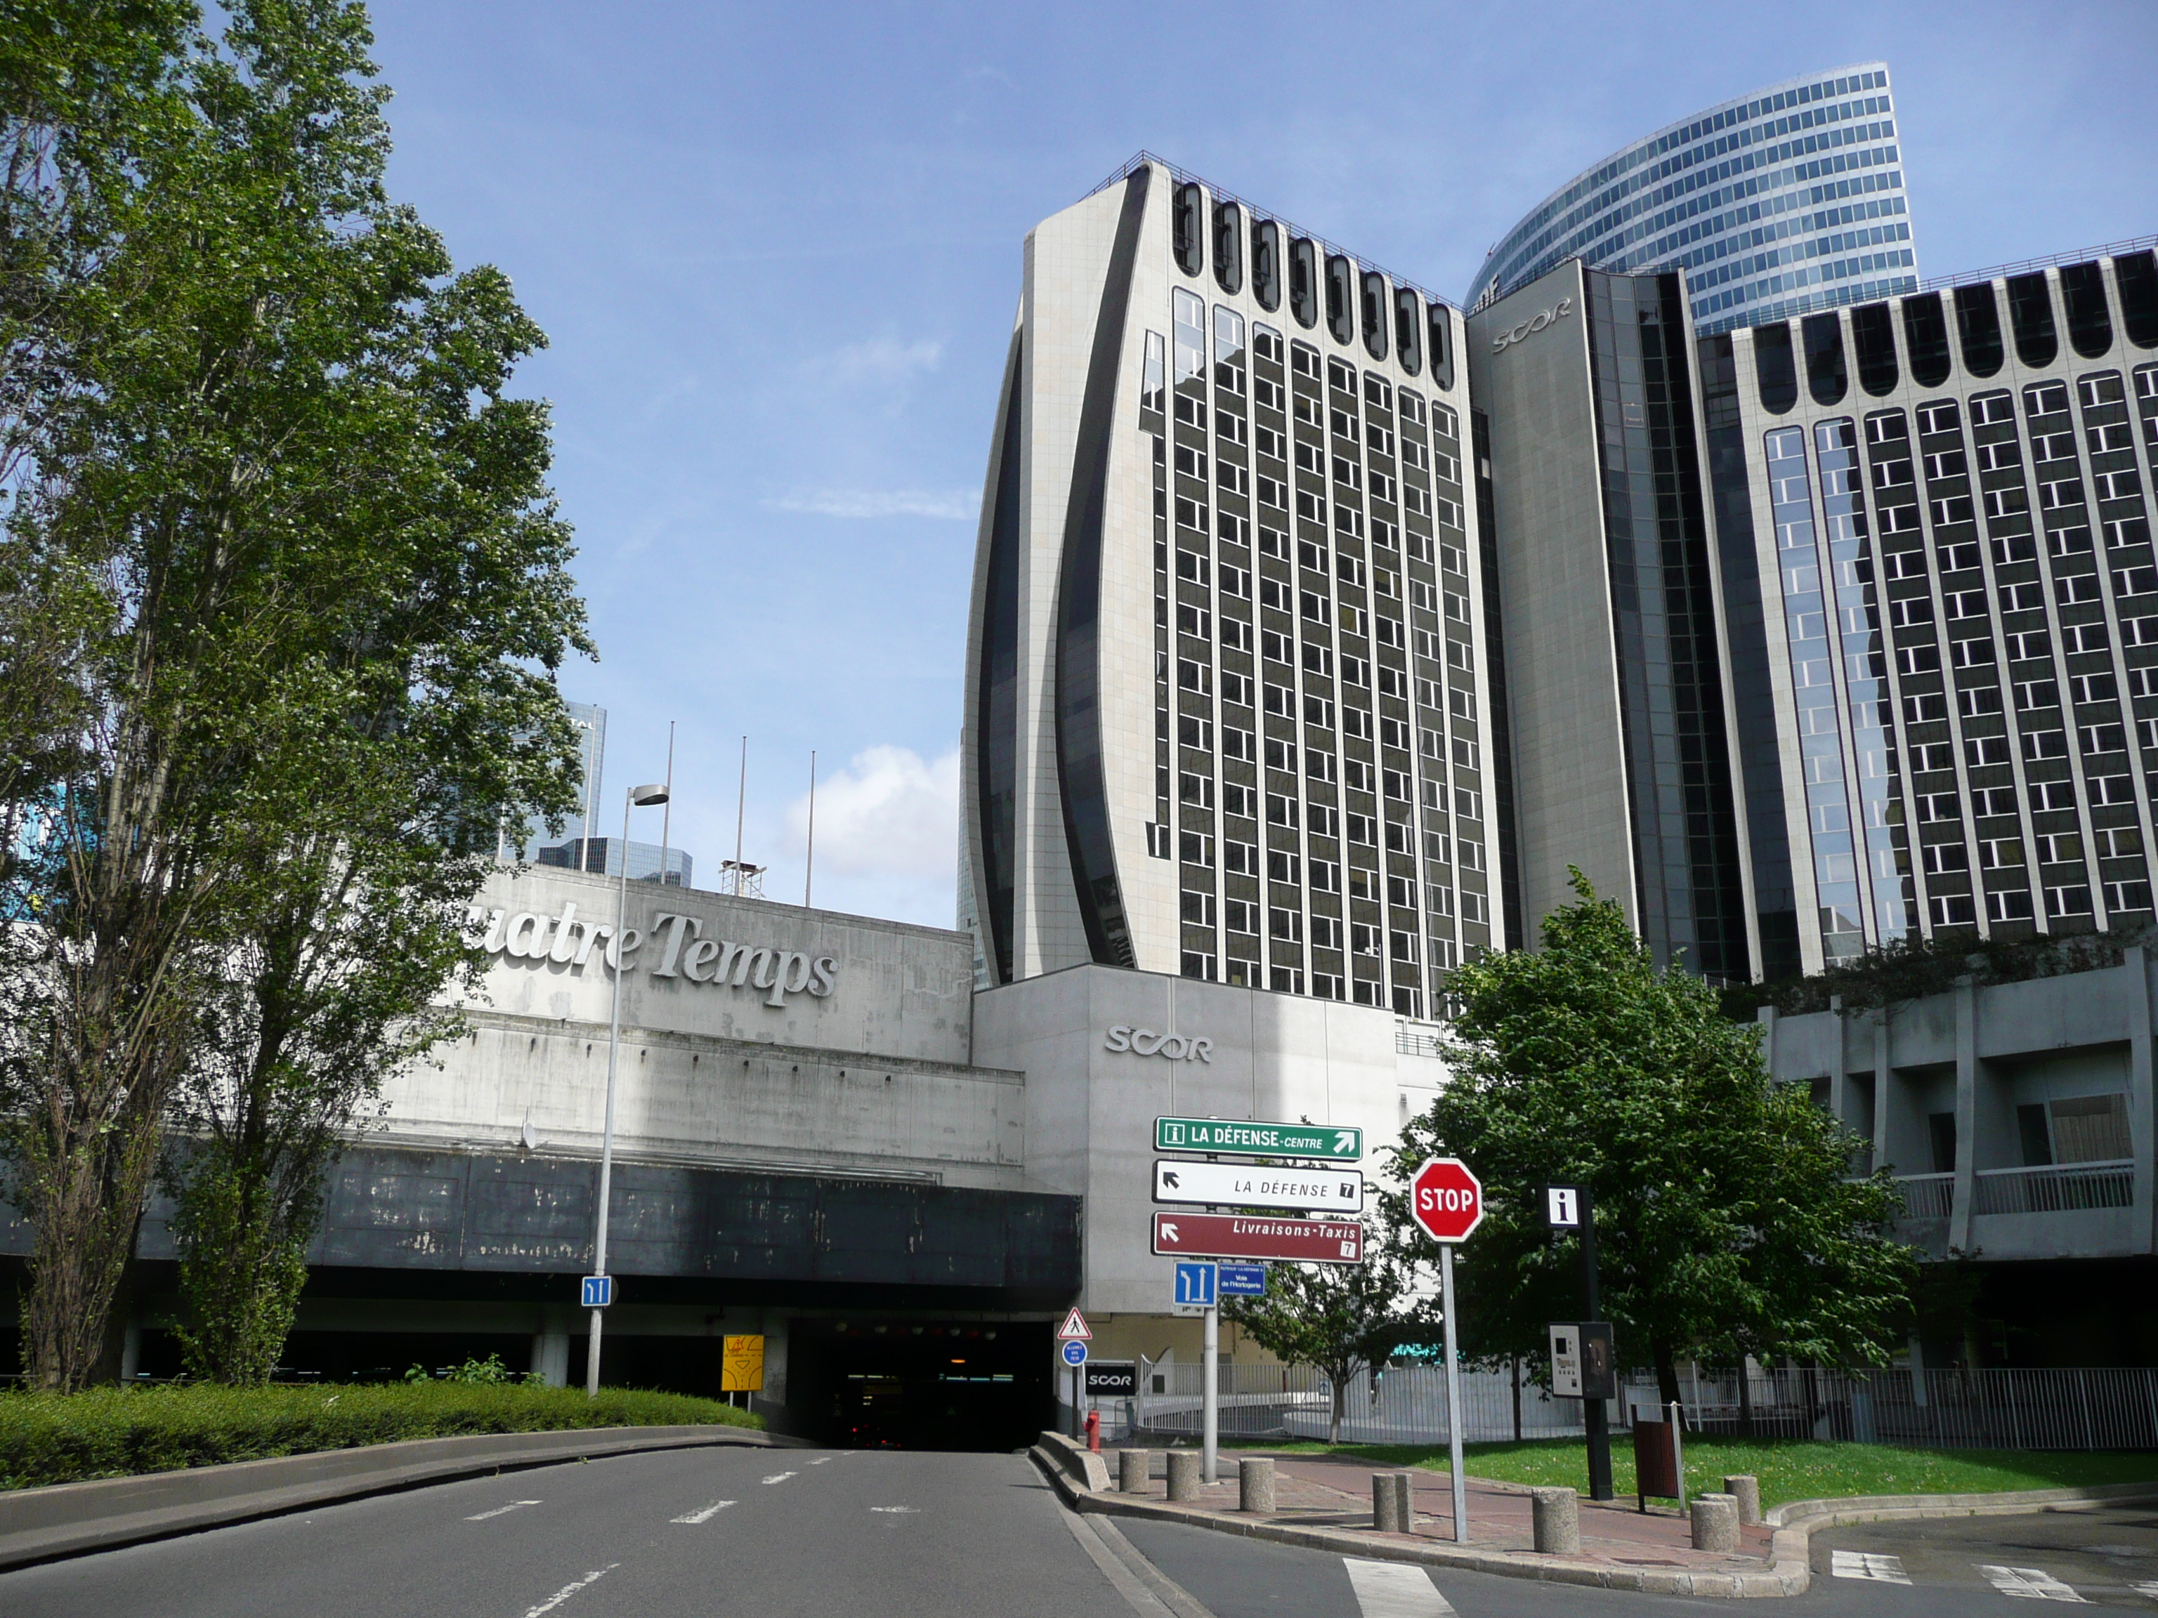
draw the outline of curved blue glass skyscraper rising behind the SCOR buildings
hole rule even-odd
[[[1772,84],[1614,151],[1491,248],[1470,306],[1567,259],[1683,270],[1701,332],[1914,291],[1888,65]]]

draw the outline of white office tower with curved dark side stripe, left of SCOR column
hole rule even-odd
[[[1506,943],[1459,332],[1152,157],[1027,235],[967,654],[982,984],[1101,962],[1426,1016]]]

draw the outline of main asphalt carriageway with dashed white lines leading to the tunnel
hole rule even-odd
[[[669,1450],[0,1575],[6,1618],[1101,1618],[1023,1456]]]

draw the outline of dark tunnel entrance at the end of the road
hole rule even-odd
[[[855,1450],[1019,1450],[1053,1420],[1047,1320],[794,1320],[788,1409]]]

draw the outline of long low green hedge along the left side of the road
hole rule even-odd
[[[457,1432],[596,1426],[749,1426],[719,1400],[604,1387],[423,1381],[345,1387],[93,1387],[0,1394],[0,1489],[214,1467]]]

